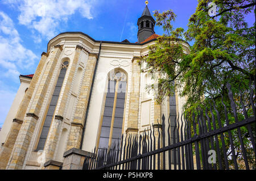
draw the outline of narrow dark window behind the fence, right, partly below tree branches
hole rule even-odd
[[[176,96],[175,92],[170,96],[170,121],[171,121],[171,144],[177,143],[177,115],[176,115]],[[176,123],[175,123],[176,121]],[[172,151],[172,163],[174,163],[174,157],[176,155],[177,162],[177,150]]]

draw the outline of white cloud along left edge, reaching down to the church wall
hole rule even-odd
[[[13,20],[0,11],[0,127],[13,103],[19,82],[19,70],[34,66],[38,57],[22,45]],[[2,79],[2,80],[1,80]],[[15,85],[15,86],[14,86]],[[13,87],[14,86],[14,87]]]

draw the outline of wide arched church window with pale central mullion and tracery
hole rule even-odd
[[[127,78],[123,71],[117,70],[109,75],[104,115],[100,129],[98,149],[107,149],[120,144],[125,110]]]

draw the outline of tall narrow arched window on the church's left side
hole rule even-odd
[[[38,147],[36,148],[36,150],[43,150],[44,145],[46,144],[47,135],[49,132],[49,128],[51,127],[53,114],[55,112],[56,104],[59,99],[60,90],[65,78],[67,67],[68,67],[68,61],[64,61],[63,68],[60,70],[60,75],[59,75],[59,78],[57,79],[55,90],[53,92],[52,99],[49,104],[46,120],[44,120],[43,129],[42,129],[39,142],[38,142]]]

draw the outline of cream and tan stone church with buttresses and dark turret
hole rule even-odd
[[[82,169],[92,150],[181,112],[179,90],[160,105],[146,91],[153,80],[138,60],[159,36],[147,3],[137,25],[136,43],[94,40],[82,32],[49,40],[35,73],[19,76],[0,131],[0,169]],[[182,45],[189,53],[189,44]]]

